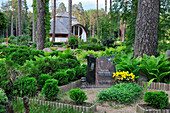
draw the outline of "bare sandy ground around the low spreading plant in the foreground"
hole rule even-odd
[[[85,102],[96,103],[97,104],[97,111],[96,113],[136,113],[136,103],[131,105],[123,105],[118,103],[108,103],[103,102],[102,104],[96,102],[97,100],[97,93],[101,90],[106,88],[89,88],[83,89],[84,92],[87,94],[88,99]],[[156,90],[149,90],[149,91],[156,91]],[[170,91],[166,91],[168,93],[169,101],[170,101]],[[145,103],[143,99],[138,100],[137,103]]]

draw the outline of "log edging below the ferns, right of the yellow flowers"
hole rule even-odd
[[[145,83],[146,83],[146,85],[148,84],[148,82],[145,82]],[[142,86],[142,87],[144,87],[142,81],[138,81],[137,84],[140,85],[140,86]],[[156,90],[170,91],[170,84],[152,82],[152,83],[150,84],[150,86],[148,87],[148,89],[156,89]]]

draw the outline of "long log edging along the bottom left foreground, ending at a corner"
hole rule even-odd
[[[16,97],[17,102],[23,101],[23,98]],[[72,105],[72,104],[64,104],[58,102],[51,102],[51,101],[44,101],[38,99],[29,99],[29,104],[36,103],[40,105],[50,106],[52,108],[61,108],[61,109],[73,109],[79,112],[86,112],[86,113],[94,113],[96,111],[96,104],[92,104],[90,107],[87,106],[79,106],[79,105]]]

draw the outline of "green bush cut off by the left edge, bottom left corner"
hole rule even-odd
[[[0,88],[0,113],[6,113],[5,102],[8,101],[8,98],[3,89]]]

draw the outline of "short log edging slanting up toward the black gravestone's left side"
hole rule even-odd
[[[65,92],[67,92],[71,89],[75,89],[75,88],[79,87],[80,85],[81,85],[81,79],[74,81],[74,82],[67,84],[67,85],[59,86],[59,88],[60,88],[59,94],[65,93]]]

